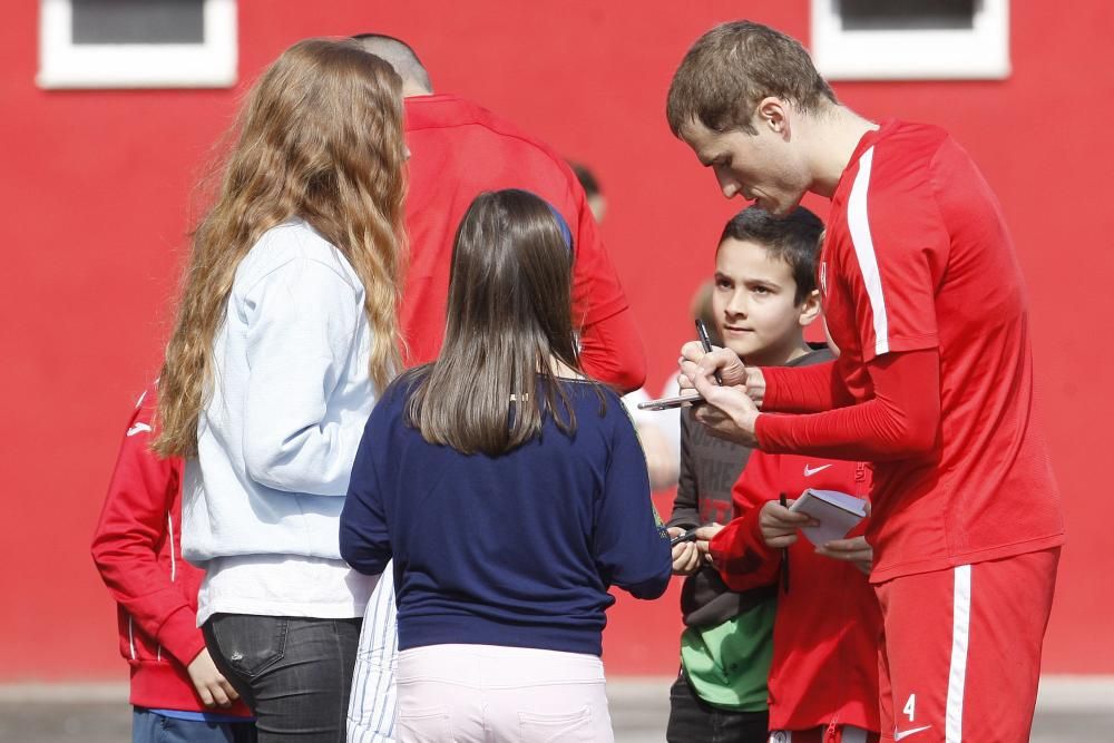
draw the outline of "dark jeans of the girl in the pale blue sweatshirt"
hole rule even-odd
[[[260,743],[344,743],[361,623],[214,614],[202,629],[255,714]]]

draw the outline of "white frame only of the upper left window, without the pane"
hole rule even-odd
[[[70,0],[39,4],[42,88],[223,88],[236,82],[236,0],[204,0],[203,43],[74,43]]]

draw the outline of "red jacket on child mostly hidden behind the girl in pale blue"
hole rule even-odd
[[[154,385],[128,422],[92,538],[92,559],[116,599],[120,653],[131,666],[130,702],[143,707],[250,716],[237,702],[205,707],[186,666],[205,647],[197,628],[204,575],[182,559],[182,460],[150,449]]]

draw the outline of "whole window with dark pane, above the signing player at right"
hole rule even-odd
[[[812,56],[833,80],[1009,75],[1009,0],[812,0]]]

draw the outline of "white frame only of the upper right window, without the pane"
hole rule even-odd
[[[1009,0],[976,0],[973,29],[844,31],[838,0],[812,1],[812,57],[831,80],[1009,77]]]

